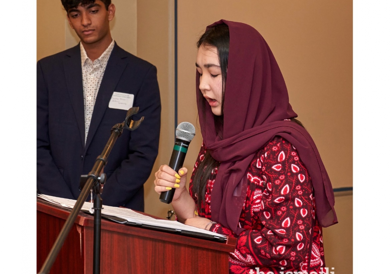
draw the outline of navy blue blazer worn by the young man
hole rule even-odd
[[[123,133],[104,168],[103,205],[144,210],[143,185],[158,153],[161,102],[157,69],[115,44],[97,93],[87,142],[80,44],[37,62],[37,191],[76,200],[80,176],[87,175],[127,110],[108,108],[112,93],[134,94],[144,116]]]

